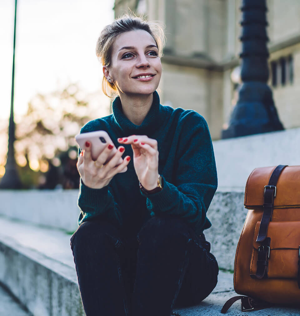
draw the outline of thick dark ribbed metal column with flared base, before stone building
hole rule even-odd
[[[229,127],[222,138],[246,136],[283,130],[274,105],[272,90],[267,85],[266,0],[242,1],[242,70],[243,85],[231,113]]]

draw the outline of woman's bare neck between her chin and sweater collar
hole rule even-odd
[[[120,94],[123,114],[135,125],[141,125],[149,112],[152,102],[153,94],[144,96],[128,96]]]

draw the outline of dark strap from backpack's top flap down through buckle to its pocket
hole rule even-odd
[[[263,204],[263,214],[261,218],[261,224],[259,227],[259,232],[257,235],[257,242],[262,242],[267,237],[269,222],[272,218],[273,207],[274,207],[274,197],[276,196],[276,184],[280,173],[286,166],[279,165],[277,166],[271,177],[269,179],[269,184],[265,186],[264,191],[264,204]]]

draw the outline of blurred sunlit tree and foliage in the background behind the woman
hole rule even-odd
[[[50,175],[32,176],[32,171],[47,173],[49,169],[51,174],[58,172],[55,178],[62,187],[74,186],[77,177],[74,136],[87,121],[108,115],[109,111],[110,101],[102,92],[86,94],[77,84],[48,94],[36,94],[28,103],[27,113],[16,122],[15,158],[21,167],[24,187],[50,188],[45,186]],[[53,179],[51,187],[55,187]]]

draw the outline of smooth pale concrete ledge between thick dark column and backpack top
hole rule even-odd
[[[213,142],[219,187],[242,190],[257,167],[298,166],[300,128]]]

